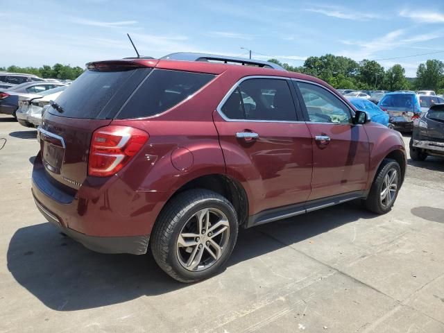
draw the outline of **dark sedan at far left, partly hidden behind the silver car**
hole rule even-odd
[[[30,94],[38,94],[61,85],[64,84],[46,81],[27,82],[15,85],[9,89],[0,90],[0,113],[11,114],[15,117],[15,112],[19,108],[19,100],[27,99]]]

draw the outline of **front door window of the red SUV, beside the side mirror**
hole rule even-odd
[[[316,123],[351,123],[350,109],[323,87],[297,82],[309,120]]]

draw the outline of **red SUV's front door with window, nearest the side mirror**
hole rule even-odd
[[[370,148],[364,126],[329,89],[293,80],[311,133],[313,176],[309,200],[366,188]]]

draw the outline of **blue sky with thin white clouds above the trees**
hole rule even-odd
[[[178,51],[278,58],[302,65],[333,53],[404,66],[444,60],[444,1],[0,0],[0,66],[160,57]]]

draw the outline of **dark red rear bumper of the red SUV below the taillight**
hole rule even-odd
[[[146,253],[149,235],[169,192],[135,191],[117,176],[87,178],[77,191],[67,191],[54,182],[39,153],[32,193],[49,222],[97,252]]]

